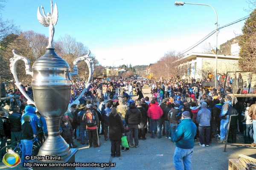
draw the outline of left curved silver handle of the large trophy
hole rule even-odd
[[[20,92],[26,97],[26,99],[28,100],[27,103],[35,105],[35,102],[26,94],[26,92],[21,87],[21,82],[19,81],[19,79],[17,77],[17,63],[19,60],[22,60],[23,62],[25,62],[26,74],[33,76],[33,72],[31,71],[31,68],[30,68],[30,61],[26,57],[17,55],[15,53],[15,50],[12,50],[12,53],[14,54],[14,57],[10,59],[10,62],[11,62],[10,69],[11,69],[12,75],[15,79],[15,85],[20,90]]]

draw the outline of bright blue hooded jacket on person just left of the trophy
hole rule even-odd
[[[38,118],[38,116],[35,115],[35,108],[33,108],[30,105],[26,106],[25,113],[21,116],[21,120],[20,120],[22,125],[24,123],[23,117],[25,115],[29,115],[29,117],[30,117],[30,125],[32,126],[33,133],[37,134],[38,133],[37,127],[38,127],[39,118]]]

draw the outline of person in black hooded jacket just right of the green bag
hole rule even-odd
[[[130,109],[128,109],[125,113],[125,123],[128,125],[130,133],[130,141],[129,146],[134,147],[133,144],[133,136],[134,136],[134,142],[135,147],[139,146],[139,139],[138,139],[138,133],[139,133],[139,124],[141,122],[142,115],[138,108],[136,108],[135,103],[131,103]]]

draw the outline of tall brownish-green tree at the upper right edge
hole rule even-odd
[[[243,35],[239,41],[239,69],[256,72],[256,9],[251,12],[242,28]]]

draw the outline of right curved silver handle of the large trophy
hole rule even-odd
[[[89,55],[90,55],[90,50],[89,50],[89,53],[85,56],[82,56],[82,57],[78,57],[74,60],[73,64],[74,64],[74,67],[73,67],[73,70],[74,72],[70,72],[69,73],[69,78],[70,80],[72,80],[72,76],[74,75],[78,75],[78,68],[77,68],[77,64],[80,62],[80,61],[84,61],[86,62],[87,66],[88,66],[88,70],[89,70],[89,76],[88,76],[88,79],[87,79],[87,82],[86,82],[86,85],[85,85],[85,88],[84,90],[81,92],[81,94],[77,97],[77,99],[70,103],[68,105],[68,111],[70,111],[70,107],[74,104],[76,105],[79,105],[79,99],[81,99],[81,97],[84,95],[85,91],[87,91],[87,88],[90,86],[90,81],[92,79],[92,75],[93,75],[93,72],[94,72],[94,64],[93,64],[93,59],[92,58],[89,58]]]

